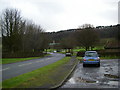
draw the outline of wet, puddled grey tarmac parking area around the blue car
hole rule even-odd
[[[101,60],[100,67],[79,63],[71,78],[60,88],[118,88],[118,59]]]

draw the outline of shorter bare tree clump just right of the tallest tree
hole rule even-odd
[[[24,34],[24,51],[39,52],[47,49],[49,37],[44,33],[41,26],[28,22]]]

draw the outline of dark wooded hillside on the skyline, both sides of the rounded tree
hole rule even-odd
[[[73,35],[74,33],[81,31],[83,29],[68,29],[68,30],[61,30],[58,32],[48,32],[51,36],[52,40],[58,41],[64,37]],[[116,38],[120,40],[120,24],[117,25],[110,25],[110,26],[97,26],[94,28],[99,33],[100,38]],[[73,35],[73,37],[75,37]]]

